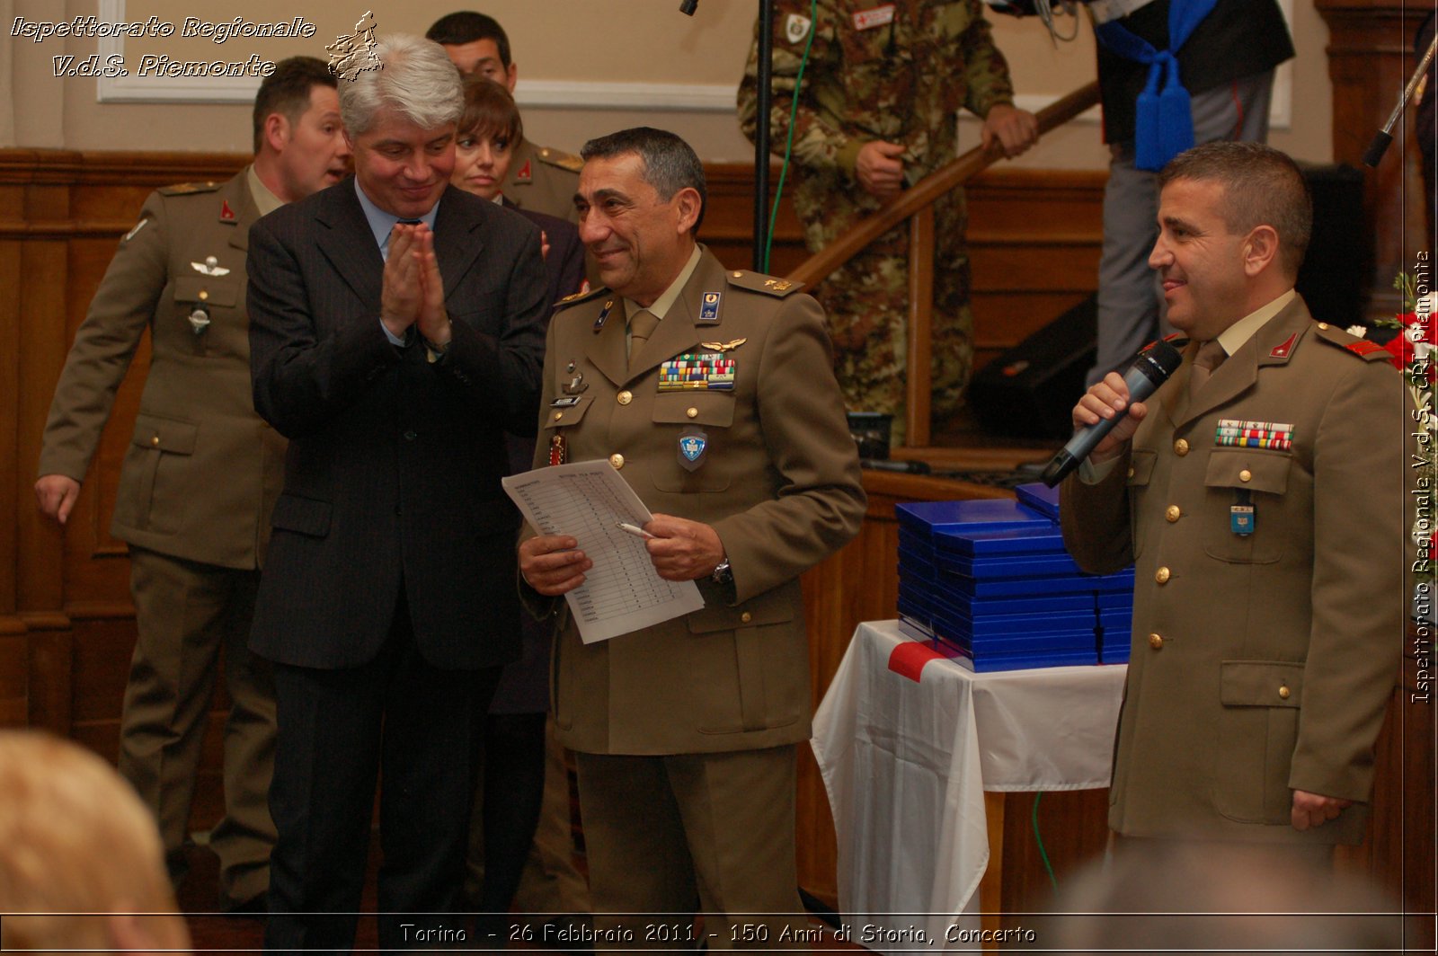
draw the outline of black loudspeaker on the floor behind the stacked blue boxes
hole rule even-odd
[[[1087,299],[981,368],[969,404],[984,431],[1015,438],[1073,434],[1073,407],[1097,358],[1099,298]]]

